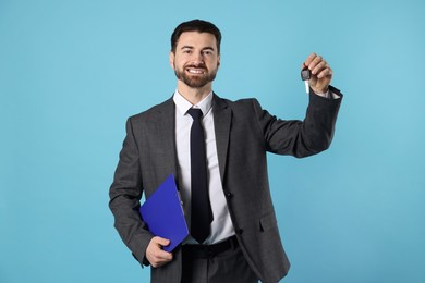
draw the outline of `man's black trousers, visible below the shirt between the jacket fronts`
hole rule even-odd
[[[182,283],[257,283],[235,237],[205,246],[183,246]]]

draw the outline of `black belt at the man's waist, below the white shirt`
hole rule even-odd
[[[184,245],[183,253],[193,258],[211,258],[238,245],[236,236],[212,245]]]

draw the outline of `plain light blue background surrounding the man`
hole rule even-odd
[[[269,156],[288,283],[425,282],[424,1],[0,0],[0,282],[148,282],[112,227],[129,115],[169,98],[169,38],[222,34],[222,97],[303,119],[315,51],[344,93],[331,148]],[[248,152],[247,152],[248,153]]]

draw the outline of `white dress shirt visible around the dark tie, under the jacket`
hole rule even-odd
[[[218,168],[218,156],[216,146],[216,133],[214,127],[212,93],[204,98],[196,106],[192,106],[182,95],[175,90],[173,100],[175,103],[175,146],[180,167],[180,194],[183,201],[183,210],[189,227],[191,226],[191,127],[193,119],[187,114],[191,108],[198,108],[203,111],[202,124],[204,126],[207,155],[208,189],[211,202],[214,220],[211,233],[202,244],[219,243],[232,235],[234,229],[230,219],[229,209],[226,202],[224,193]],[[191,236],[185,244],[196,244]]]

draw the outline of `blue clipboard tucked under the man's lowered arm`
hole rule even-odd
[[[139,212],[150,233],[170,239],[170,244],[162,247],[166,251],[172,251],[189,235],[173,174],[146,199]]]

